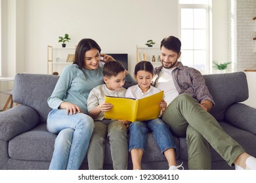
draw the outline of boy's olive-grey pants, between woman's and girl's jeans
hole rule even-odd
[[[116,120],[95,121],[95,129],[87,151],[89,170],[102,170],[105,156],[105,138],[110,140],[110,152],[114,170],[127,169],[127,128]]]

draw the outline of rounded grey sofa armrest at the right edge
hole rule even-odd
[[[256,108],[235,103],[226,109],[224,118],[229,124],[256,134]]]

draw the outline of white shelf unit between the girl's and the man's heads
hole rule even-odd
[[[153,56],[155,61],[152,61]],[[138,46],[137,45],[137,62],[150,61],[154,67],[160,66],[160,46]]]

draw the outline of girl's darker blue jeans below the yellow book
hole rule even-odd
[[[129,130],[129,151],[133,148],[139,148],[145,152],[148,138],[147,133],[150,131],[152,131],[162,153],[169,148],[175,148],[177,150],[169,126],[160,118],[144,122],[133,122],[130,124]]]

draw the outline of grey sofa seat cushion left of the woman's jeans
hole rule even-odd
[[[47,131],[46,124],[37,125],[9,141],[9,156],[20,160],[51,161],[55,139],[56,135]]]

